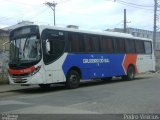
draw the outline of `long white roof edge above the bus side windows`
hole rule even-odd
[[[44,29],[56,29],[56,30],[69,31],[69,32],[78,32],[78,33],[87,33],[87,34],[95,34],[95,35],[105,35],[105,36],[110,36],[110,37],[120,37],[120,38],[152,41],[152,39],[134,37],[131,34],[120,33],[120,32],[88,31],[88,30],[80,30],[80,29],[75,29],[75,28],[63,28],[63,27],[49,26],[49,25],[39,25],[39,29],[40,29],[40,31],[42,31]]]

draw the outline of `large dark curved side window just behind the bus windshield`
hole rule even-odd
[[[45,29],[42,33],[44,63],[49,64],[58,59],[65,50],[65,32]]]

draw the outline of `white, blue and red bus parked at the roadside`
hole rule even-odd
[[[116,32],[28,25],[10,32],[9,81],[42,88],[155,70],[152,40]]]

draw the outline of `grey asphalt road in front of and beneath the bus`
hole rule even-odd
[[[55,85],[0,92],[0,113],[14,114],[137,114],[160,113],[160,75],[133,81],[82,83],[78,89]]]

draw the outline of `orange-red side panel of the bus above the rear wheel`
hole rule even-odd
[[[137,55],[136,54],[126,54],[125,60],[123,62],[123,66],[125,68],[125,71],[127,72],[128,66],[130,64],[132,64],[135,67],[136,73],[138,73],[136,62],[137,62]]]

